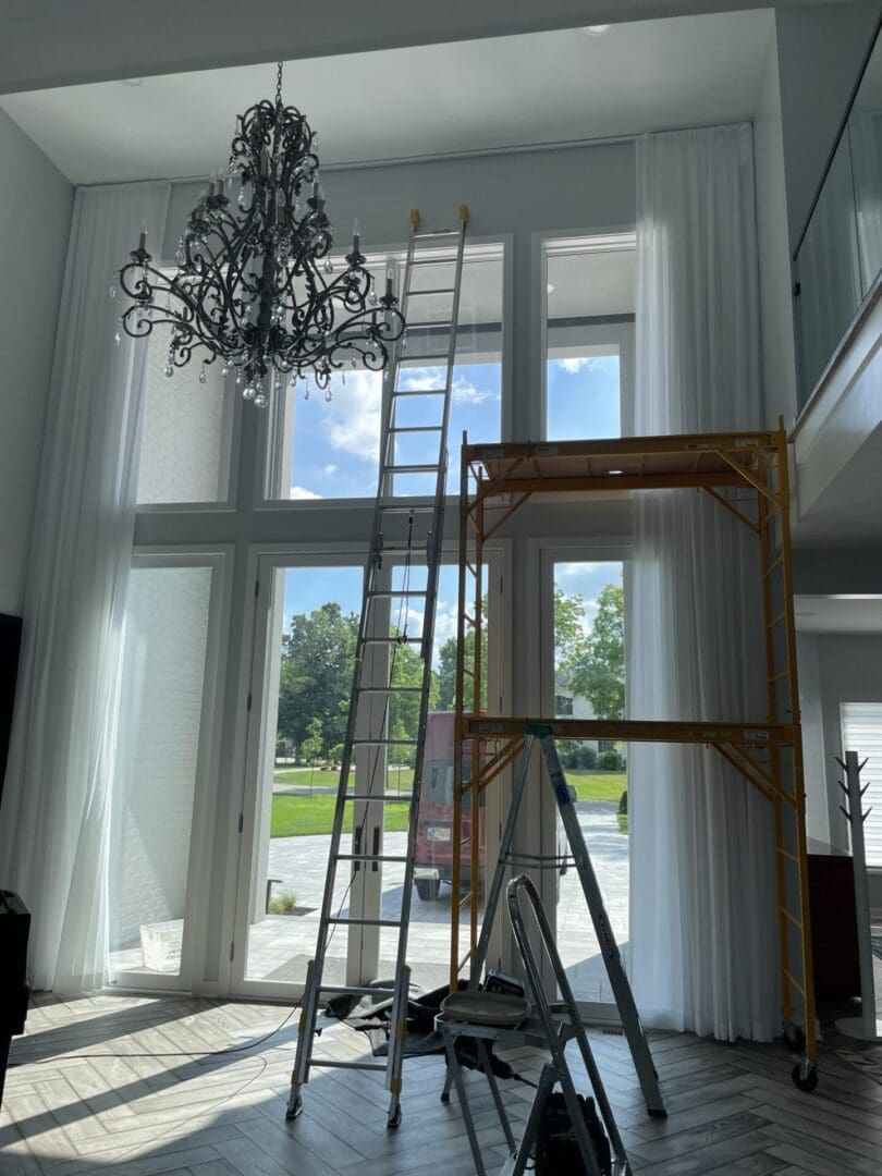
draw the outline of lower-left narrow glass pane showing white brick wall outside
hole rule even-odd
[[[111,973],[180,971],[211,568],[134,568],[111,836]]]

